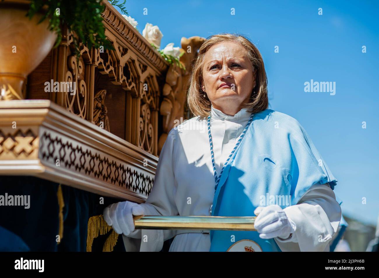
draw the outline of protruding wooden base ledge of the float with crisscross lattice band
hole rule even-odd
[[[0,175],[144,202],[158,157],[49,100],[0,101]]]

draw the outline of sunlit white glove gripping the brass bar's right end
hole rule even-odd
[[[296,230],[296,224],[287,217],[279,205],[257,207],[254,214],[258,215],[255,218],[254,228],[258,231],[260,238],[287,239]]]

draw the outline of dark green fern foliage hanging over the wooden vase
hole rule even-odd
[[[47,8],[43,11],[44,16],[39,23],[45,19],[49,20],[50,31],[56,32],[58,38],[55,47],[58,47],[62,40],[61,26],[66,25],[70,32],[74,32],[78,36],[78,40],[88,48],[99,48],[103,46],[105,49],[114,50],[112,43],[105,37],[105,28],[102,23],[102,12],[105,5],[100,5],[102,0],[32,0],[27,16],[31,19],[37,12],[42,11],[42,7]],[[117,6],[123,12],[126,12],[124,3]],[[74,37],[74,36],[73,36]],[[75,54],[80,57],[79,43],[74,37]]]

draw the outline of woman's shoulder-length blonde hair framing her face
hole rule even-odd
[[[253,66],[256,85],[252,90],[248,103],[243,103],[241,108],[247,108],[252,113],[257,113],[268,108],[267,76],[265,65],[263,64],[262,55],[255,45],[246,37],[240,34],[222,33],[209,36],[201,45],[196,61],[193,64],[191,76],[189,78],[189,87],[187,94],[187,104],[189,110],[195,116],[206,117],[211,110],[211,102],[208,96],[205,98],[205,92],[201,88],[202,68],[205,53],[215,44],[225,41],[239,42],[246,49]]]

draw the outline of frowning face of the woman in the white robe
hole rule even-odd
[[[213,45],[205,53],[202,70],[202,90],[216,109],[236,113],[242,103],[250,101],[247,98],[255,87],[254,71],[240,43],[227,41]]]

